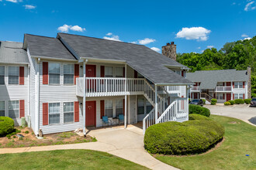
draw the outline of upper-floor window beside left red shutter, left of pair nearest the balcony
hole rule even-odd
[[[49,63],[49,84],[60,84],[59,63]]]

